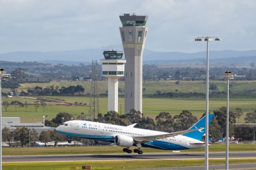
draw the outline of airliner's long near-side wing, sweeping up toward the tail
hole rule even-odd
[[[178,136],[178,135],[181,135],[181,134],[185,134],[185,133],[188,133],[188,132],[193,132],[195,130],[201,130],[201,129],[203,129],[203,128],[196,128],[196,129],[192,129],[192,130],[183,130],[183,131],[180,131],[180,132],[157,134],[157,135],[150,135],[150,136],[134,136],[133,138],[136,142],[147,143],[147,142],[151,142],[153,140],[174,137],[174,136]]]

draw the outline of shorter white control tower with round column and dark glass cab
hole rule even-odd
[[[118,112],[118,78],[124,76],[124,63],[122,60],[123,51],[114,49],[104,51],[102,63],[102,75],[108,77],[108,111]]]

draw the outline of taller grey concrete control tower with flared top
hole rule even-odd
[[[130,109],[142,112],[142,55],[148,32],[145,27],[148,16],[124,14],[120,20],[122,27],[119,29],[126,58],[125,113],[129,113]]]

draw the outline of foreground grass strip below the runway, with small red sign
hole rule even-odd
[[[256,158],[230,159],[229,164],[253,163]],[[225,159],[209,159],[209,165],[225,164]],[[197,160],[113,160],[113,161],[78,161],[78,162],[25,162],[3,163],[3,170],[70,170],[70,166],[92,166],[98,170],[164,168],[180,166],[202,166],[204,159]]]

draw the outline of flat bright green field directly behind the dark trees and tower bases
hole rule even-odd
[[[51,98],[51,97],[50,97]],[[58,99],[65,99],[68,103],[82,102],[87,103],[86,106],[62,106],[56,105],[58,103],[48,103],[46,102],[45,112],[43,112],[42,107],[38,108],[38,112],[35,112],[34,105],[29,105],[27,110],[25,108],[19,108],[17,112],[15,112],[13,106],[9,106],[7,112],[4,107],[2,107],[2,115],[3,117],[20,117],[22,123],[35,123],[43,120],[44,115],[48,115],[47,119],[51,120],[56,117],[56,115],[60,112],[68,112],[75,117],[81,115],[81,112],[86,113],[88,115],[88,105],[90,103],[90,97],[78,96],[78,97],[52,97]],[[6,97],[2,97],[3,101],[8,101],[9,103],[12,100],[19,100],[22,102],[27,101],[30,104],[33,104],[35,100],[33,99],[22,99],[20,97],[15,97],[12,99],[6,99]],[[100,112],[106,114],[107,113],[107,105],[108,98],[100,97]],[[119,113],[124,114],[124,98],[119,97]],[[210,98],[209,99],[209,111],[212,113],[214,110],[219,109],[221,106],[226,106],[225,98]],[[122,107],[122,111],[121,111]],[[239,107],[243,110],[244,115],[240,118],[240,123],[244,122],[244,117],[246,113],[250,111],[256,110],[256,100],[254,99],[232,99],[230,98],[230,111],[235,111],[235,109]],[[160,112],[169,112],[171,115],[177,115],[182,112],[183,109],[187,109],[193,113],[196,117],[200,118],[205,111],[205,99],[202,98],[143,98],[143,113],[144,115],[155,118]],[[237,120],[238,121],[238,120]]]

